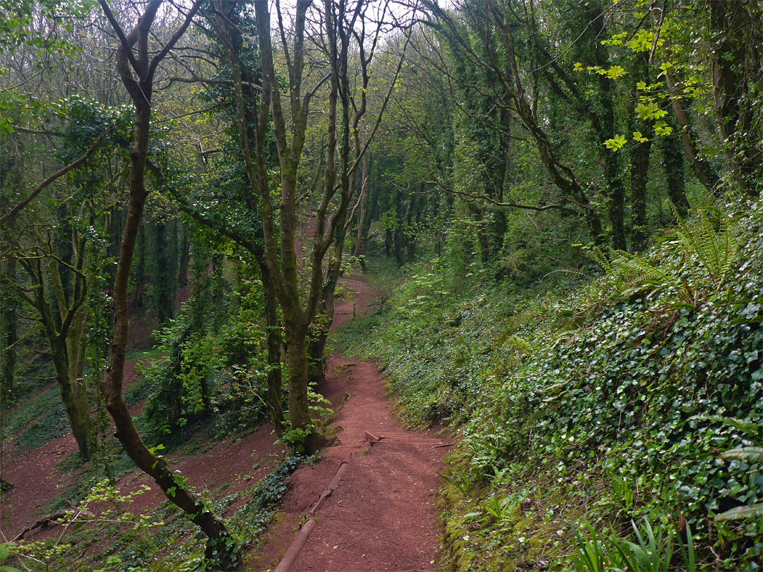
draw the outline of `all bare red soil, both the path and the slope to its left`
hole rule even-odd
[[[362,276],[343,280],[345,294],[336,304],[334,327],[362,313],[373,294]],[[137,378],[136,360],[127,363],[126,386]],[[272,570],[297,535],[307,512],[343,462],[336,490],[314,514],[317,526],[291,570],[436,570],[439,524],[436,514],[437,472],[449,443],[433,431],[407,432],[394,413],[383,376],[372,362],[359,362],[334,352],[327,360],[325,381],[318,387],[336,410],[333,445],[314,465],[298,468],[275,522],[258,548],[250,551],[250,570]],[[137,414],[143,407],[133,408]],[[380,439],[374,444],[366,433]],[[214,445],[194,443],[166,455],[173,469],[188,477],[208,498],[220,498],[250,487],[275,467],[284,451],[275,445],[268,425],[249,435],[233,435]],[[375,439],[372,439],[375,440]],[[8,441],[6,441],[8,442]],[[11,540],[43,516],[56,497],[72,490],[83,469],[63,468],[61,461],[76,452],[71,433],[25,455],[4,451],[2,476],[14,487],[0,506],[0,535]],[[117,484],[121,493],[152,485],[140,471]],[[158,487],[135,497],[131,512],[150,513],[164,500]],[[245,499],[225,510],[231,516]],[[54,529],[38,529],[24,538],[44,538]],[[93,545],[90,550],[104,548]],[[166,548],[166,547],[165,547]],[[84,555],[84,554],[83,554]]]

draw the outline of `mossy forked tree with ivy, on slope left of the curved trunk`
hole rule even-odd
[[[37,132],[63,142],[52,159],[67,164],[37,184],[0,217],[4,225],[0,247],[4,265],[8,265],[10,271],[3,273],[3,290],[15,291],[15,296],[34,310],[31,319],[40,324],[47,341],[56,383],[83,459],[89,459],[92,454],[89,400],[82,376],[88,342],[85,328],[88,313],[83,304],[91,288],[90,282],[95,278],[88,275],[92,256],[88,255],[87,249],[94,239],[98,239],[102,209],[109,200],[108,185],[99,189],[100,193],[95,192],[95,187],[103,183],[105,173],[104,156],[100,152],[118,121],[111,115],[113,110],[95,108],[101,112],[100,117],[90,117],[89,111],[85,111],[89,110],[88,102],[72,101],[61,110],[66,121],[61,132]],[[76,159],[72,160],[74,157]],[[8,182],[9,194],[16,191],[17,197],[23,196],[18,189],[21,178],[14,177],[14,170],[10,177],[3,178]],[[40,201],[37,201],[37,209],[28,208],[41,198],[43,191],[56,187],[73,196],[56,193],[53,194],[55,206],[39,205]],[[26,280],[16,275],[17,265],[24,270]],[[13,308],[12,313],[6,309],[5,316],[10,313],[8,317],[15,320],[16,310],[21,308]],[[12,346],[18,342],[11,320],[5,333],[8,345],[3,348],[8,357],[14,356]],[[13,359],[9,362],[12,364]],[[11,371],[7,372],[9,378],[11,374]]]

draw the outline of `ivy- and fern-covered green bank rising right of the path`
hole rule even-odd
[[[697,570],[760,567],[761,519],[716,517],[763,501],[759,458],[723,456],[763,445],[739,428],[763,423],[761,221],[759,204],[695,214],[644,255],[594,251],[598,267],[531,288],[456,295],[436,259],[343,329],[408,423],[462,433],[446,567],[566,570],[588,522],[623,542],[633,522],[691,529]]]

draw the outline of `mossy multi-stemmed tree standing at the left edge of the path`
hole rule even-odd
[[[320,445],[320,435],[314,432],[308,404],[309,379],[307,333],[323,301],[325,315],[330,323],[333,314],[333,289],[342,257],[343,239],[346,233],[346,217],[354,192],[351,184],[359,159],[365,152],[356,139],[356,159],[350,146],[353,128],[357,128],[365,113],[365,95],[351,101],[347,66],[350,46],[359,50],[362,66],[371,60],[373,49],[365,52],[365,26],[369,20],[364,2],[325,2],[323,11],[317,11],[315,29],[308,28],[308,12],[313,2],[299,0],[291,21],[285,19],[281,5],[275,3],[278,19],[276,37],[288,76],[288,90],[282,93],[278,82],[278,69],[272,45],[271,14],[265,2],[255,2],[259,43],[259,73],[242,65],[242,58],[233,42],[234,26],[227,15],[225,5],[214,4],[217,29],[222,43],[227,47],[227,65],[231,70],[233,94],[236,102],[234,124],[239,133],[240,149],[246,165],[246,175],[259,199],[259,216],[262,220],[262,260],[272,281],[273,293],[278,300],[288,347],[288,412],[291,425],[290,439],[308,451]],[[381,24],[377,24],[381,25]],[[324,61],[310,62],[311,69],[328,69],[324,75],[306,76],[307,32],[312,31],[311,41],[322,53]],[[375,41],[373,41],[375,46]],[[360,47],[362,46],[362,48]],[[365,72],[367,74],[367,71]],[[261,88],[256,88],[255,76],[262,78]],[[311,88],[304,83],[312,81]],[[295,230],[298,225],[298,175],[307,133],[311,101],[324,83],[328,82],[327,109],[327,163],[323,188],[317,198],[317,206],[311,213],[314,232],[309,255],[309,278],[302,293],[295,251]],[[367,85],[368,79],[365,79]],[[247,106],[252,90],[259,92],[259,105]],[[246,94],[246,95],[245,95]],[[350,107],[356,105],[353,119]],[[383,108],[381,110],[383,112]],[[338,117],[338,114],[341,114]],[[378,124],[378,121],[377,121]],[[275,137],[279,173],[278,214],[271,198],[271,175],[267,169],[269,129]],[[340,130],[340,133],[337,131]],[[337,146],[339,146],[337,156]],[[367,145],[366,145],[367,146]],[[342,245],[340,246],[340,243]],[[336,245],[329,275],[324,277],[324,259],[332,245]],[[323,335],[323,334],[320,334]],[[324,340],[325,341],[325,340]],[[322,352],[322,344],[316,352]],[[322,358],[322,355],[314,355]]]

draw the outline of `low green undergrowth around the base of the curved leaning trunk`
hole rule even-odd
[[[227,526],[244,549],[255,548],[288,488],[289,475],[299,465],[313,462],[314,458],[291,455],[251,487],[227,495],[222,490],[205,491],[204,496],[214,497],[207,500],[217,514],[245,500]],[[207,570],[206,537],[177,507],[164,501],[150,514],[130,512],[130,504],[146,490],[149,487],[144,486],[123,494],[105,480],[88,487],[76,508],[69,510],[61,532],[40,541],[0,544],[0,564],[6,561],[26,570],[73,570],[76,566],[82,572]],[[110,539],[107,546],[101,544],[103,538]]]

